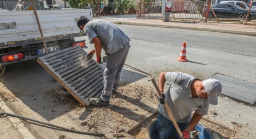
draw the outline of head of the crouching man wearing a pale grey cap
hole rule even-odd
[[[222,85],[218,80],[209,78],[203,81],[204,91],[208,94],[208,101],[212,105],[218,105],[218,96],[222,91]]]

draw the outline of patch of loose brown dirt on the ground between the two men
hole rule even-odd
[[[81,123],[104,138],[131,138],[126,132],[151,116],[157,109],[155,90],[141,85],[126,85],[112,95],[109,106],[89,106]]]

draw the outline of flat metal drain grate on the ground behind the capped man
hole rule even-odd
[[[214,75],[211,78],[219,80],[223,85],[221,95],[225,95],[234,100],[241,101],[247,105],[256,105],[256,85],[242,80],[238,80],[223,75]]]

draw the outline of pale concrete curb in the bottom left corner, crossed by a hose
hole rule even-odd
[[[8,108],[6,103],[0,98],[0,106],[4,112],[11,113],[14,115],[12,110]],[[36,137],[32,135],[32,133],[27,129],[27,127],[24,125],[24,123],[19,120],[19,118],[8,116],[9,120],[12,122],[13,126],[17,129],[17,131],[21,134],[23,138],[27,139],[33,139]]]

